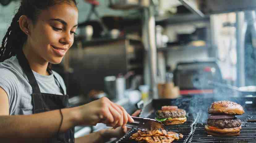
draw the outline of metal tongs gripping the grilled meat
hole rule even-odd
[[[154,119],[149,119],[149,118],[141,118],[141,117],[133,117],[134,122],[132,123],[127,123],[126,127],[127,128],[138,128],[141,130],[146,130],[146,131],[152,131],[155,129],[164,129],[164,124],[162,122],[154,120]]]

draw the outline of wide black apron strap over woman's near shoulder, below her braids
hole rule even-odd
[[[28,82],[32,87],[32,93],[33,94],[40,94],[40,88],[36,82],[36,78],[34,76],[33,71],[31,70],[28,60],[26,59],[23,50],[21,49],[18,54],[17,54],[17,58],[19,59],[19,64],[22,67],[22,69],[24,70],[26,76],[28,77]]]

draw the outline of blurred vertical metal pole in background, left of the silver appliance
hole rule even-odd
[[[144,21],[143,21],[143,44],[145,49],[148,49],[148,66],[150,79],[150,98],[157,99],[158,91],[156,84],[156,35],[155,35],[155,17],[154,8],[152,6],[144,7]]]

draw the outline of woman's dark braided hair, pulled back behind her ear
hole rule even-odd
[[[27,35],[19,27],[19,18],[22,15],[26,15],[30,18],[33,24],[36,24],[37,17],[41,10],[45,10],[51,6],[62,3],[75,4],[76,0],[22,0],[18,12],[12,19],[11,25],[8,28],[0,47],[0,62],[11,58],[16,55],[18,51],[23,47],[23,44],[27,40]],[[51,64],[48,64],[48,68]]]

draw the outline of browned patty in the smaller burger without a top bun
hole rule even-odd
[[[158,110],[156,112],[156,116],[159,119],[163,118],[181,118],[186,116],[186,111],[183,109],[177,109],[177,110]]]

